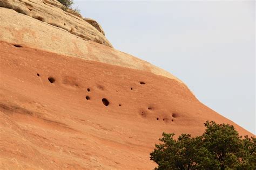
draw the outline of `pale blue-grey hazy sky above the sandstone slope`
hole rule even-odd
[[[198,100],[255,134],[254,1],[82,1],[119,51],[185,82]]]

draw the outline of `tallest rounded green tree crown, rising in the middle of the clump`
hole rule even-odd
[[[217,124],[213,121],[207,121],[205,126],[204,146],[212,153],[220,169],[235,168],[239,163],[238,155],[242,143],[238,132],[234,130],[234,126]]]

